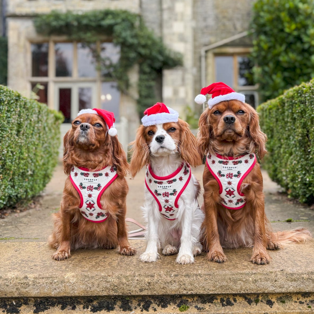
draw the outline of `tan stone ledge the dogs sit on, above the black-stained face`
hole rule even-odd
[[[138,248],[135,256],[79,250],[57,262],[46,242],[1,241],[0,297],[314,292],[314,242],[270,251],[271,263],[260,266],[249,262],[249,248],[225,250],[223,264],[208,262],[204,253],[192,265],[176,264],[176,256],[141,263],[145,242],[131,243]]]

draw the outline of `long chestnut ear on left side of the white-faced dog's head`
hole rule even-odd
[[[135,141],[132,145],[132,157],[130,163],[130,173],[132,178],[140,171],[144,165],[149,163],[149,147],[145,139],[145,127],[141,125],[136,133]]]

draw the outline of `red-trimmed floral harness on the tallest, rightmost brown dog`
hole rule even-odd
[[[207,154],[206,165],[219,184],[222,206],[240,209],[246,204],[245,195],[240,191],[240,187],[255,163],[255,154],[246,154],[237,158]]]

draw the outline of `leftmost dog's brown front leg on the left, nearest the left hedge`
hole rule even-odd
[[[72,215],[65,211],[63,206],[61,205],[60,213],[61,213],[61,230],[60,230],[60,237],[59,237],[59,246],[57,251],[52,254],[52,259],[57,261],[62,261],[64,259],[68,259],[71,257],[70,253],[70,239],[71,239],[71,220]]]

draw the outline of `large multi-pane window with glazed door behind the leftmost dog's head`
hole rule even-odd
[[[81,42],[31,43],[30,88],[38,100],[61,111],[64,122],[71,122],[78,111],[104,108],[120,117],[120,92],[106,66],[120,58],[120,47],[111,42],[86,45]],[[48,93],[48,89],[52,89]]]

